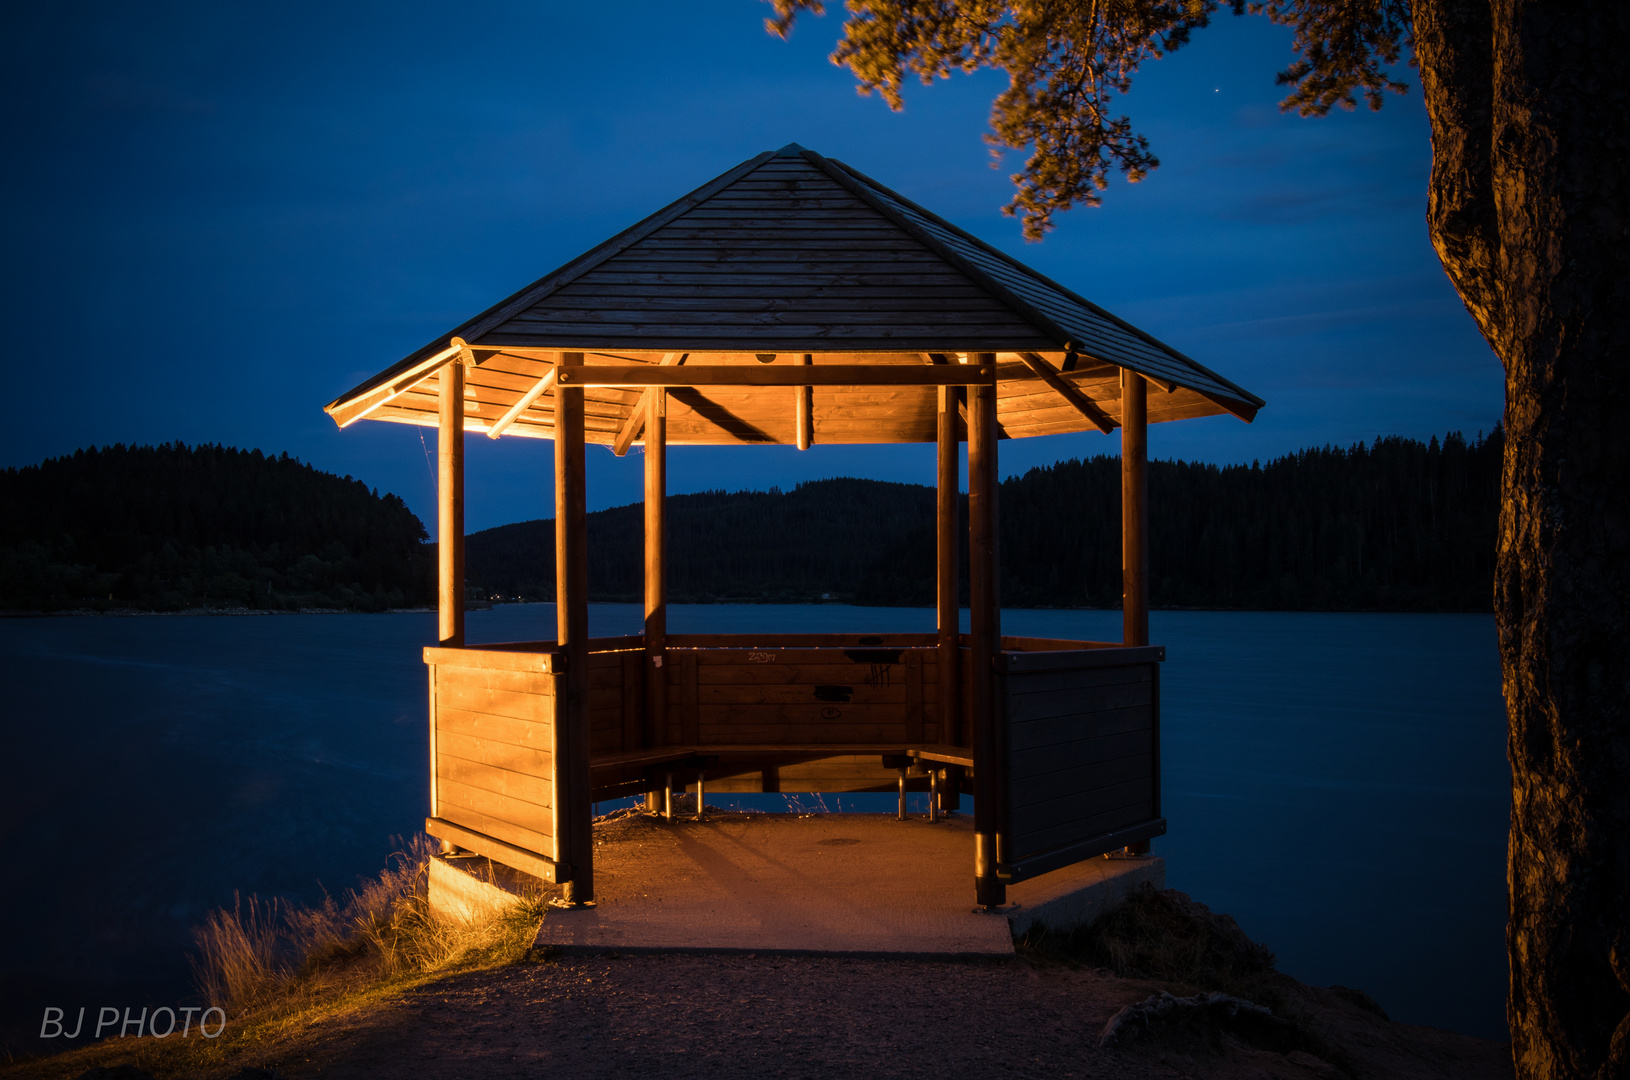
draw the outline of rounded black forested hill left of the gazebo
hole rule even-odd
[[[80,450],[0,471],[0,609],[424,604],[424,539],[396,495],[289,454]]]

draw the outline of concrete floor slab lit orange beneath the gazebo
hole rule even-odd
[[[598,904],[551,911],[538,945],[567,953],[782,953],[1006,958],[1014,929],[973,911],[973,821],[885,814],[632,816],[595,826]],[[1014,886],[1009,915],[1069,929],[1159,858],[1105,860]],[[1029,915],[1033,906],[1035,915]],[[1029,917],[1027,917],[1029,915]]]

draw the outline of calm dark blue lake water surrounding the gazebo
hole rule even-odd
[[[639,624],[632,604],[590,606],[595,635]],[[670,614],[681,634],[932,626],[838,604]],[[1002,629],[1115,640],[1120,614],[1007,611]],[[471,612],[468,632],[554,637],[554,609]],[[434,614],[0,621],[5,1043],[60,1047],[37,1038],[47,1005],[72,1020],[187,997],[187,929],[235,891],[313,901],[377,871],[427,810],[434,637]],[[1151,637],[1167,883],[1306,982],[1506,1038],[1493,617],[1157,611]]]

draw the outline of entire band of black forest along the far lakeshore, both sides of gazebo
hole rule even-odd
[[[1152,461],[1151,599],[1488,611],[1500,459],[1495,430],[1249,466]],[[1011,477],[999,516],[1004,606],[1120,606],[1118,458]],[[588,515],[590,596],[637,603],[641,549],[639,503]],[[422,606],[434,554],[401,498],[287,454],[108,446],[0,471],[0,609]],[[554,596],[551,520],[474,533],[466,559],[473,598]],[[932,606],[934,490],[833,479],[672,495],[668,560],[675,603]]]

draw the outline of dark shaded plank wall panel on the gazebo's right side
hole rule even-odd
[[[1014,880],[1165,832],[1154,650],[1007,656],[1007,863]],[[1012,670],[1017,666],[1038,670]],[[1108,663],[1107,663],[1108,661]]]

